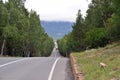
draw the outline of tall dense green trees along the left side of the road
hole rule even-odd
[[[24,3],[0,0],[1,56],[49,56],[53,39],[41,27],[39,15],[33,10],[28,12]]]

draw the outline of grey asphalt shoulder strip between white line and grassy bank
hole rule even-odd
[[[68,58],[61,58],[56,64],[52,80],[73,80]]]

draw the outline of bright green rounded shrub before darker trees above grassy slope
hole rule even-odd
[[[86,32],[85,41],[90,48],[103,47],[108,43],[108,36],[104,28],[93,28]]]

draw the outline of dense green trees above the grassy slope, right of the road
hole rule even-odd
[[[79,10],[72,32],[58,40],[62,55],[120,40],[120,0],[92,0],[86,13]]]

